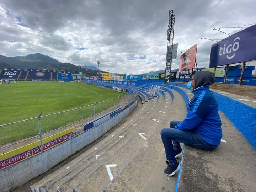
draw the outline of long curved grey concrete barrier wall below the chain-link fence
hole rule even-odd
[[[7,192],[25,184],[33,178],[47,172],[55,165],[58,165],[61,161],[75,154],[86,145],[94,142],[126,118],[137,106],[137,102],[138,101],[136,100],[135,103],[117,116],[112,117],[108,121],[105,121],[62,144],[2,169],[0,171],[0,191]]]

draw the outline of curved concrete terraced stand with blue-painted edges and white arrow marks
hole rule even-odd
[[[185,118],[193,95],[186,85],[176,83],[137,87],[144,89],[139,91],[142,100],[153,91],[158,97],[138,106],[126,122],[85,153],[33,183],[31,191],[255,191],[254,107],[214,93],[222,110],[223,142],[214,151],[184,146],[179,174],[168,177],[163,173],[166,158],[160,130]],[[244,118],[239,118],[242,113]]]

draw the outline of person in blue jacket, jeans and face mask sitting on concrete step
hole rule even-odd
[[[182,154],[180,143],[202,150],[213,150],[222,138],[221,120],[218,103],[209,90],[214,82],[214,73],[209,71],[193,71],[188,89],[194,97],[188,103],[188,113],[183,121],[171,121],[170,128],[161,130],[161,138],[165,148],[168,176],[180,169],[176,160]],[[173,144],[172,144],[173,143]]]

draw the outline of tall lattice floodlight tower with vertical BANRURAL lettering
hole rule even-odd
[[[169,24],[167,29],[167,53],[166,53],[166,66],[165,66],[165,81],[170,81],[171,64],[172,64],[172,47],[174,39],[174,21],[175,14],[173,10],[169,10]]]

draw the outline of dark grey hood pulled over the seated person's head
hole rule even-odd
[[[210,71],[196,71],[194,73],[195,89],[214,83],[215,75]]]

